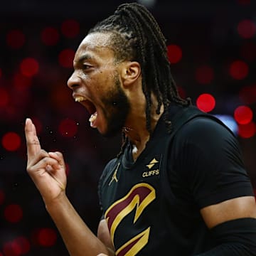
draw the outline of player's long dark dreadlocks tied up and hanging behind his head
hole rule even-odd
[[[183,100],[177,91],[171,75],[167,56],[166,39],[151,13],[137,3],[121,4],[114,14],[97,23],[89,33],[111,33],[111,45],[117,61],[135,60],[142,69],[142,90],[146,97],[146,129],[151,133],[151,93],[156,95],[160,114],[164,105],[164,122],[171,132],[167,107],[169,102],[187,106],[190,100]],[[124,139],[124,146],[127,139]],[[121,152],[122,153],[122,150]]]

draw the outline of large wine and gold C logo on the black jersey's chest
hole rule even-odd
[[[139,183],[132,187],[127,196],[119,199],[107,209],[105,219],[110,230],[111,240],[114,241],[114,233],[119,223],[132,210],[136,209],[134,223],[138,220],[142,212],[156,198],[156,192],[152,186],[147,183]],[[131,223],[132,225],[132,223]],[[137,234],[134,238],[127,241],[116,250],[117,256],[133,256],[147,244],[149,240],[150,227]]]

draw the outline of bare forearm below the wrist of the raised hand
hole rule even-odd
[[[110,255],[107,247],[85,225],[68,198],[63,195],[58,200],[46,204],[65,245],[72,256]]]

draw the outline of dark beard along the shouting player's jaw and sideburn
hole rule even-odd
[[[102,135],[112,137],[122,131],[130,110],[129,100],[117,75],[114,76],[114,88],[107,92],[102,102],[105,104],[103,112],[107,120],[107,129]]]

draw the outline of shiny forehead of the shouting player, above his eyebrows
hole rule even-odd
[[[82,40],[75,53],[78,60],[82,55],[99,55],[102,58],[114,57],[114,52],[110,47],[112,33],[90,33]]]

